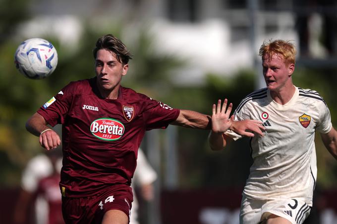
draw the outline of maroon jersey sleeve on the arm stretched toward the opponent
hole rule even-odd
[[[179,109],[174,109],[165,103],[148,98],[143,113],[146,130],[166,129],[169,123],[177,119],[179,113]]]

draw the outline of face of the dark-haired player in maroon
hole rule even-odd
[[[107,49],[100,49],[95,60],[95,71],[99,88],[112,91],[119,87],[122,76],[126,75],[128,65],[120,63],[115,54]]]

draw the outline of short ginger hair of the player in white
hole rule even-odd
[[[290,41],[283,40],[269,40],[263,42],[259,50],[259,55],[262,60],[266,57],[267,60],[271,60],[273,55],[283,56],[283,61],[286,64],[295,64],[296,49]]]

